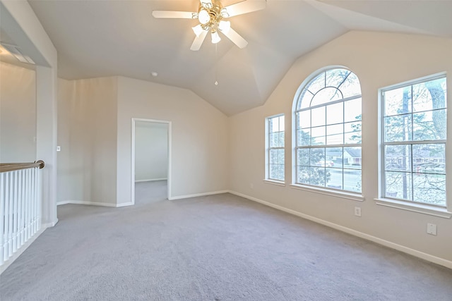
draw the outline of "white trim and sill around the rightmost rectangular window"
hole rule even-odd
[[[412,211],[412,212],[417,212],[420,214],[427,214],[427,215],[431,215],[431,216],[438,216],[444,219],[451,219],[452,217],[452,202],[449,201],[448,199],[448,195],[451,194],[451,192],[448,193],[447,188],[448,187],[452,187],[450,184],[452,183],[451,181],[451,176],[452,176],[452,168],[448,167],[451,164],[446,164],[446,207],[438,207],[438,206],[431,206],[429,204],[422,204],[422,203],[418,203],[418,202],[412,202],[412,201],[404,201],[404,200],[398,200],[398,199],[388,199],[386,197],[382,197],[383,196],[383,183],[384,183],[384,161],[383,161],[383,99],[382,99],[382,94],[383,91],[386,90],[391,90],[393,88],[397,88],[397,87],[404,87],[406,85],[416,85],[420,82],[426,82],[428,80],[435,80],[437,78],[443,78],[446,77],[446,93],[447,93],[447,99],[446,99],[446,108],[448,107],[449,104],[449,99],[450,99],[450,94],[448,93],[449,91],[451,91],[451,80],[448,80],[447,75],[445,72],[441,72],[441,73],[436,73],[433,75],[428,75],[428,76],[424,76],[422,78],[417,78],[415,80],[408,80],[406,82],[400,82],[396,85],[390,85],[387,87],[382,87],[381,89],[379,89],[378,91],[378,102],[379,102],[379,112],[378,112],[378,122],[379,122],[379,135],[378,135],[378,139],[379,139],[379,150],[378,150],[378,159],[379,159],[379,197],[374,198],[374,201],[376,202],[376,204],[381,205],[381,206],[385,206],[385,207],[391,207],[391,208],[396,208],[396,209],[401,209],[401,210],[406,210],[406,211]],[[448,109],[447,110],[447,123],[446,123],[446,131],[447,133],[451,132],[451,113],[452,110]],[[448,134],[449,136],[449,134]],[[449,139],[450,140],[450,139]],[[436,141],[436,140],[435,140]],[[438,141],[436,141],[438,142]],[[444,141],[441,140],[442,143],[446,142],[446,162],[448,161],[448,158],[451,157],[450,154],[452,154],[452,142],[451,141]],[[410,144],[416,144],[417,141],[411,141]]]

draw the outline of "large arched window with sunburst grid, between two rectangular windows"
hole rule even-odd
[[[295,183],[361,192],[361,87],[355,73],[326,70],[295,101]]]

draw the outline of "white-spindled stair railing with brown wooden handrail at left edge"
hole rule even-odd
[[[41,228],[44,161],[0,164],[0,266]]]

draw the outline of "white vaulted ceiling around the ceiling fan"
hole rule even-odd
[[[196,20],[151,16],[196,11],[198,0],[28,2],[57,48],[59,77],[124,75],[184,87],[227,115],[263,104],[299,56],[349,30],[452,38],[452,0],[268,0],[263,11],[229,19],[246,48],[222,36],[216,51],[209,37],[200,51],[190,50]]]

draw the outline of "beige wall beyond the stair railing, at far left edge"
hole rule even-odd
[[[0,162],[36,160],[36,72],[0,62]]]

